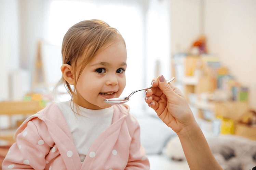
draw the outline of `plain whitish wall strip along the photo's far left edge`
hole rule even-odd
[[[0,1],[0,101],[9,99],[9,74],[19,68],[18,0]]]

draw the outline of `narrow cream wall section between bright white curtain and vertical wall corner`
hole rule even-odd
[[[200,36],[200,0],[171,0],[171,53],[187,52]]]

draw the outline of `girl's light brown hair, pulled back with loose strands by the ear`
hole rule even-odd
[[[69,28],[63,38],[61,52],[63,64],[69,64],[73,67],[75,78],[74,87],[72,89],[70,84],[63,77],[59,80],[56,87],[64,84],[66,90],[71,96],[71,102],[76,93],[75,89],[77,80],[79,79],[84,67],[97,55],[98,52],[100,52],[100,50],[104,48],[104,46],[117,40],[124,42],[124,39],[119,31],[113,27],[110,27],[102,20],[85,20],[78,22]],[[80,67],[80,65],[78,66],[78,59],[82,57],[83,60],[81,68],[79,73],[77,73],[77,68]],[[75,105],[79,110],[78,105]]]

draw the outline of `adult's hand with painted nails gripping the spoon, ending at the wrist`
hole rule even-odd
[[[174,132],[196,123],[185,96],[163,76],[152,80],[153,88],[145,91],[145,101],[154,109],[158,117]]]

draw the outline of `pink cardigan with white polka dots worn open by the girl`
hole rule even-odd
[[[53,103],[18,128],[2,169],[148,170],[140,128],[127,105],[114,105],[112,125],[94,141],[81,164],[67,122]]]

